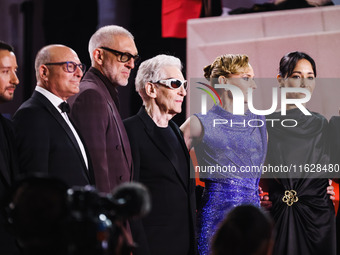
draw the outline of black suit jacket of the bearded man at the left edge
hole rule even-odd
[[[14,237],[7,231],[7,216],[5,206],[8,203],[8,194],[18,173],[18,160],[14,144],[12,123],[1,116],[0,125],[3,130],[0,136],[0,254],[19,254]]]

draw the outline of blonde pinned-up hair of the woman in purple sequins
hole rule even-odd
[[[208,80],[220,76],[229,77],[230,74],[237,74],[242,69],[249,67],[249,58],[243,54],[226,54],[218,56],[211,65],[203,68],[204,77]]]

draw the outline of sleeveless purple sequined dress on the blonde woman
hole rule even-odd
[[[266,121],[249,111],[233,115],[215,105],[206,115],[196,114],[204,128],[195,146],[205,189],[198,208],[198,250],[210,254],[218,224],[234,207],[259,206],[258,184],[267,148]],[[202,178],[203,177],[203,178]]]

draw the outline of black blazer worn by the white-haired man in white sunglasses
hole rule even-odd
[[[181,131],[169,122],[183,146],[187,173],[180,172],[174,161],[177,152],[166,144],[144,108],[126,119],[124,125],[131,144],[134,179],[146,185],[151,194],[151,212],[142,219],[145,234],[139,236],[146,236],[150,254],[194,254],[195,183],[189,178],[191,161]]]

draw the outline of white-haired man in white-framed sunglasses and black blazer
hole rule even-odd
[[[137,115],[124,120],[134,179],[147,186],[151,194],[151,212],[140,226],[144,235],[139,237],[147,239],[146,245],[140,243],[144,255],[188,255],[196,250],[191,161],[181,131],[171,120],[181,112],[186,95],[181,68],[178,58],[167,55],[144,61],[136,77],[136,91],[144,106]]]

